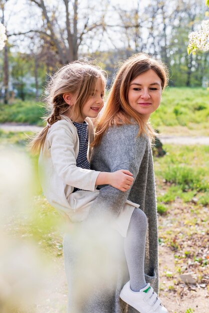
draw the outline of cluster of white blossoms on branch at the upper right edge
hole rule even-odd
[[[203,20],[199,31],[192,31],[189,34],[188,54],[197,50],[209,50],[209,19]]]

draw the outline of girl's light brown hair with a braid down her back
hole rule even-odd
[[[75,61],[61,67],[50,79],[47,87],[45,103],[49,115],[43,117],[47,121],[47,126],[40,131],[30,142],[33,153],[39,153],[45,143],[49,127],[61,119],[60,114],[69,109],[63,98],[64,93],[69,93],[75,103],[70,107],[72,116],[77,119],[82,116],[84,104],[88,101],[92,91],[96,88],[98,78],[106,82],[106,73],[99,67],[89,62]]]

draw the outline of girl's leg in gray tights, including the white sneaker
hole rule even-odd
[[[144,277],[144,256],[147,232],[147,218],[144,212],[135,208],[125,238],[125,255],[130,281],[120,292],[120,298],[141,313],[168,313],[161,300]]]

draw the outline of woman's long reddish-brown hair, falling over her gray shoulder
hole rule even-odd
[[[130,82],[141,73],[152,69],[161,79],[162,90],[168,83],[168,69],[160,60],[156,60],[145,53],[137,53],[128,58],[119,67],[109,92],[105,110],[96,127],[96,137],[92,145],[100,143],[107,128],[112,125],[132,123],[134,119],[139,125],[138,135],[147,134],[151,139],[155,131],[140,113],[136,112],[128,103],[128,90]]]

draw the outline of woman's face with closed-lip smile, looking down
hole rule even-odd
[[[160,105],[161,93],[161,79],[153,69],[149,69],[130,82],[128,102],[135,111],[148,119]]]

